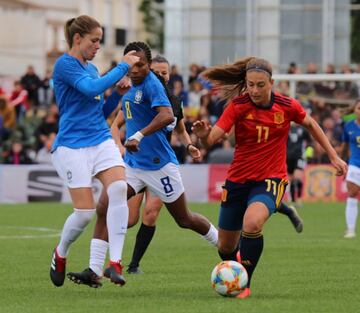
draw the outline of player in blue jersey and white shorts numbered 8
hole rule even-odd
[[[124,53],[131,50],[137,51],[140,61],[129,70],[133,86],[122,98],[126,121],[128,198],[148,188],[164,202],[180,227],[199,233],[216,246],[217,229],[204,216],[187,208],[178,161],[166,138],[166,126],[174,122],[174,116],[164,86],[150,71],[150,48],[143,42],[133,42],[126,46]],[[89,269],[68,274],[75,283],[94,287],[98,282],[97,273],[103,268],[106,256],[107,207],[108,197],[103,192],[97,205],[94,231],[94,239],[99,244],[97,247],[91,246]],[[107,268],[104,276],[109,277],[109,274]]]

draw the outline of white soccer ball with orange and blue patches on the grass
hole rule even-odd
[[[235,261],[222,261],[211,273],[213,289],[224,297],[236,297],[248,282],[244,266]]]

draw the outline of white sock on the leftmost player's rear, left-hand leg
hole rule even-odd
[[[86,225],[90,223],[94,213],[94,209],[74,209],[74,212],[69,215],[61,233],[60,243],[57,246],[57,253],[60,257],[67,257],[70,245],[81,235]]]

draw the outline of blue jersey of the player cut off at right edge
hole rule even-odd
[[[345,124],[342,140],[349,144],[349,165],[360,167],[360,125],[356,120]]]

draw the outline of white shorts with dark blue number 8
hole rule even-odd
[[[145,171],[126,165],[126,181],[136,193],[147,187],[164,203],[172,203],[184,192],[179,166],[168,163],[156,171]]]

